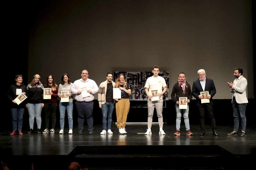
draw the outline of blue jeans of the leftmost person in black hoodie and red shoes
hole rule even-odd
[[[13,131],[17,130],[17,121],[18,121],[18,130],[22,130],[24,108],[20,108],[20,109],[11,108],[11,110],[12,110],[12,116],[13,116]]]

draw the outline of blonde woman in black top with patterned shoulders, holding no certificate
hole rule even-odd
[[[28,134],[33,133],[34,129],[34,121],[36,117],[36,123],[37,123],[37,133],[41,133],[41,111],[44,107],[44,99],[43,99],[43,91],[44,86],[40,82],[40,75],[36,74],[33,77],[33,81],[27,85],[28,90],[28,99],[26,104],[26,107],[28,108],[28,114],[29,114],[29,126],[30,129],[28,131]]]

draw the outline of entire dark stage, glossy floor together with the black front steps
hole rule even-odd
[[[210,125],[206,125],[206,134],[200,136],[199,125],[193,124],[190,129],[194,135],[188,136],[184,123],[181,123],[180,136],[173,135],[175,125],[167,124],[163,127],[166,135],[158,134],[158,124],[153,124],[152,135],[144,135],[147,124],[143,123],[127,124],[126,135],[119,135],[115,124],[112,125],[112,135],[100,135],[101,125],[94,126],[94,135],[89,135],[86,128],[83,135],[77,134],[77,127],[73,128],[72,135],[68,134],[68,129],[62,135],[58,133],[60,129],[56,129],[55,134],[27,134],[24,131],[24,135],[13,136],[9,135],[9,131],[2,131],[2,160],[9,167],[18,166],[18,160],[23,165],[33,163],[35,169],[44,169],[49,165],[65,169],[72,161],[89,169],[229,169],[234,165],[243,167],[241,161],[247,162],[256,151],[254,126],[247,127],[246,137],[240,137],[240,133],[238,136],[227,136],[232,126],[217,126],[219,136],[213,136]],[[93,149],[89,151],[88,148]],[[58,161],[59,158],[61,161]],[[111,159],[107,161],[107,158]],[[122,159],[125,163],[120,164]],[[238,161],[237,164],[229,165],[230,159]],[[194,162],[197,160],[201,163]],[[154,163],[158,161],[163,162]]]

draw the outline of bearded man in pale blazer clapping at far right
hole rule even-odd
[[[246,136],[246,105],[248,103],[246,97],[246,87],[247,80],[242,76],[243,69],[237,67],[234,69],[234,82],[228,82],[228,86],[230,87],[230,91],[232,95],[232,107],[233,107],[233,116],[234,116],[234,130],[231,133],[228,133],[229,136],[238,135],[238,126],[239,126],[239,115],[241,117],[242,124],[242,134],[241,137]]]

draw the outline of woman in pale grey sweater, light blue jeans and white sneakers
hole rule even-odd
[[[67,108],[67,113],[68,113],[68,126],[69,126],[69,131],[68,134],[73,133],[73,98],[72,98],[72,93],[71,93],[71,86],[73,83],[70,82],[68,74],[63,74],[61,77],[61,84],[59,85],[59,91],[58,91],[58,96],[61,98],[60,99],[60,132],[59,134],[64,133],[64,120],[65,120],[65,111]],[[65,93],[67,92],[67,93]],[[62,99],[67,98],[68,101],[63,102]]]

